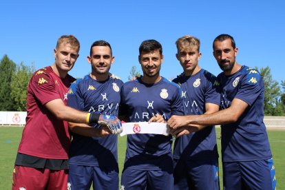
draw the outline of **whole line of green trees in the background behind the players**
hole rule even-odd
[[[271,69],[260,67],[264,79],[264,114],[266,116],[285,116],[285,80],[279,84],[273,80]],[[16,64],[4,55],[0,61],[0,111],[25,112],[27,87],[35,72],[34,65],[26,66],[23,62]],[[128,79],[140,76],[136,66],[131,67]]]

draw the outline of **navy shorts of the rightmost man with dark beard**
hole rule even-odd
[[[224,189],[275,189],[273,159],[223,162]]]

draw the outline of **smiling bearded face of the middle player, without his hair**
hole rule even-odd
[[[163,55],[160,55],[159,50],[154,50],[154,52],[142,52],[139,56],[139,61],[142,66],[143,74],[154,77],[159,75]]]

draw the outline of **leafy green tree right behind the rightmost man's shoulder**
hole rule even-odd
[[[257,69],[257,67],[255,67]],[[268,116],[281,116],[282,107],[279,101],[280,87],[277,81],[273,80],[271,69],[267,66],[260,68],[260,74],[264,80],[264,114]]]

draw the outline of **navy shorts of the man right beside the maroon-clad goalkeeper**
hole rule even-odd
[[[68,185],[71,189],[118,189],[118,169],[70,165]]]

